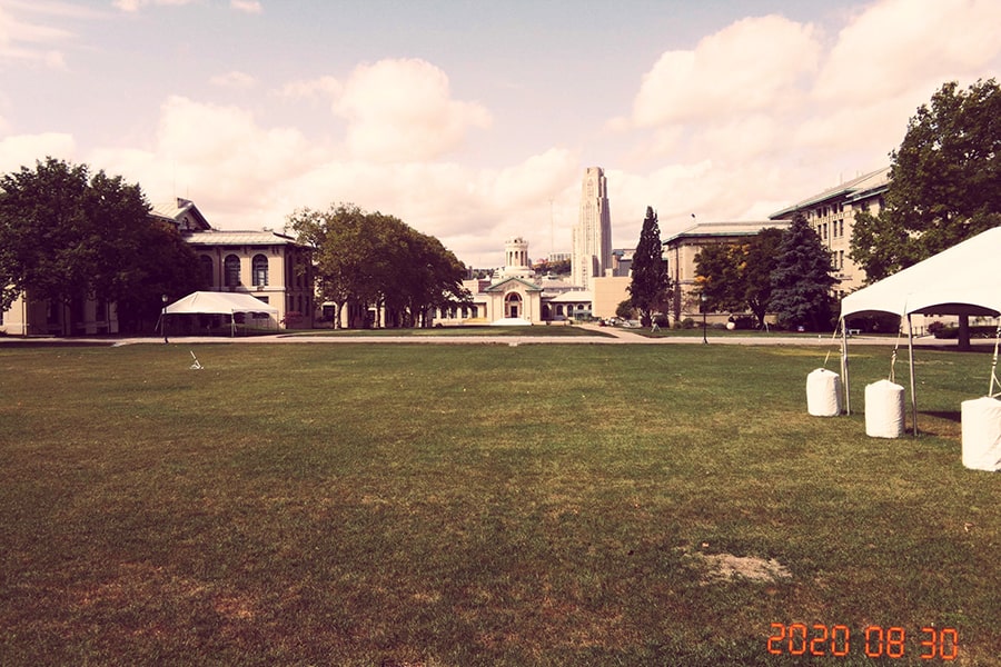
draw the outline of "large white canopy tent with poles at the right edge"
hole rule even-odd
[[[998,317],[1001,313],[999,261],[1001,261],[1001,227],[995,227],[842,299],[842,368],[845,382],[848,382],[845,320],[853,316],[879,312],[906,318],[911,367],[911,408],[916,435],[918,402],[914,397],[914,339],[911,316]]]

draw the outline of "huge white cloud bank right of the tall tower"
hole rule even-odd
[[[638,233],[647,205],[670,236],[693,212],[761,219],[880,168],[943,82],[1001,67],[998,2],[876,0],[842,19],[825,34],[750,18],[663,53],[630,116],[606,123],[633,145],[606,170],[616,242]]]

